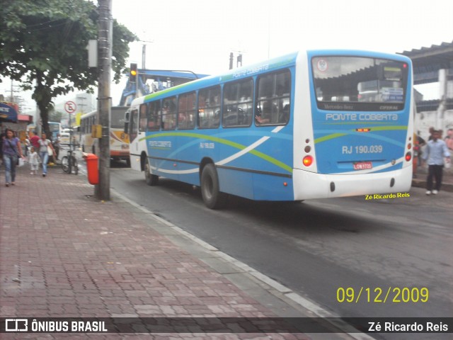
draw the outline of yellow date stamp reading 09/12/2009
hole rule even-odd
[[[360,290],[348,287],[340,287],[337,289],[338,302],[354,302],[365,300],[365,302],[374,303],[400,303],[400,302],[428,302],[430,292],[428,288],[399,288],[389,287],[382,289],[360,287]]]

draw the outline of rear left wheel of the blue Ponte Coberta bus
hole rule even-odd
[[[201,174],[201,196],[210,209],[222,208],[226,203],[226,193],[220,192],[219,176],[214,164],[207,164]]]

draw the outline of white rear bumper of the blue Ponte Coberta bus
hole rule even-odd
[[[293,183],[294,200],[406,193],[411,188],[412,166],[389,172],[357,175],[315,174],[294,169]]]

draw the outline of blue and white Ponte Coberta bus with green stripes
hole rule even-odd
[[[306,200],[408,191],[413,80],[402,55],[296,52],[136,98],[132,168],[228,195]]]

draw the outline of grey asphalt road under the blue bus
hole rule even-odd
[[[122,166],[110,171],[111,186],[122,195],[328,312],[453,315],[452,193],[427,197],[413,188],[409,197],[289,204],[235,199],[224,210],[209,210],[192,186],[161,179],[150,187],[143,174]]]

